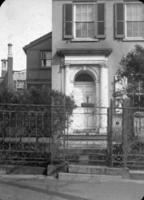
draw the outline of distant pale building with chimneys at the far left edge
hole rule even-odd
[[[0,90],[22,91],[26,88],[26,70],[13,70],[12,44],[8,44],[8,58],[1,60]]]

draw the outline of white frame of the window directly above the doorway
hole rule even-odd
[[[95,37],[91,38],[91,37],[76,37],[76,5],[94,5],[94,2],[79,2],[79,3],[75,3],[73,4],[73,36],[74,36],[74,40],[97,40]],[[95,15],[96,13],[94,13]],[[94,23],[94,30],[95,30],[95,23]]]

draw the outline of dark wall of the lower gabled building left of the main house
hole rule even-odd
[[[51,51],[51,38],[31,45],[27,50],[27,87],[51,85],[51,68],[41,68],[40,51]]]

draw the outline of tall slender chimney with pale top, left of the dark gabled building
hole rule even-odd
[[[12,44],[8,44],[8,83],[7,87],[10,90],[14,89],[13,83],[13,56],[12,56]]]

